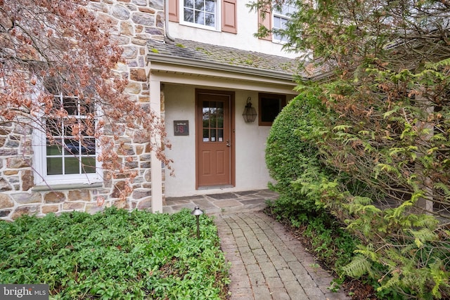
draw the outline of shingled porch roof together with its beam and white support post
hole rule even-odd
[[[297,94],[297,60],[176,39],[148,41],[150,107],[161,113],[162,83]],[[300,76],[300,78],[302,78]],[[158,157],[152,155],[152,166]],[[151,168],[152,211],[162,211],[162,172]]]

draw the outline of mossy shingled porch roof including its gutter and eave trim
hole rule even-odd
[[[176,39],[149,41],[147,61],[153,74],[184,74],[215,79],[297,86],[298,61],[254,51]]]

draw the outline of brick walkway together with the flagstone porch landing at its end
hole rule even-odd
[[[168,198],[164,212],[203,209],[214,216],[221,248],[231,263],[229,300],[349,300],[330,292],[333,277],[283,225],[261,212],[270,190]]]

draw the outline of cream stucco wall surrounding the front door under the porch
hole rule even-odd
[[[165,84],[165,122],[167,137],[172,143],[172,149],[166,150],[166,154],[174,160],[175,170],[174,177],[165,176],[166,197],[267,188],[271,178],[264,162],[264,149],[270,126],[258,126],[257,120],[254,123],[243,120],[242,113],[248,97],[258,108],[257,91],[235,92],[236,186],[195,190],[195,86]],[[189,136],[174,136],[174,120],[186,119],[189,121]]]

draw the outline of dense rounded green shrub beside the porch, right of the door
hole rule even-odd
[[[309,169],[321,169],[317,148],[309,140],[321,105],[316,98],[302,95],[290,101],[276,117],[266,144],[266,165],[276,183],[271,188],[280,193],[280,202],[288,202],[293,216],[316,211],[316,199],[307,197],[293,182]]]

